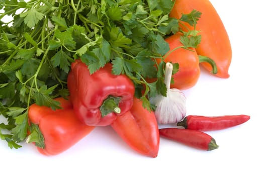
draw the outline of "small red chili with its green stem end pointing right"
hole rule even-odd
[[[181,128],[162,128],[159,129],[159,135],[202,150],[214,150],[218,148],[215,139],[202,131]]]

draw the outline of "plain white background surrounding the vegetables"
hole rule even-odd
[[[250,115],[246,123],[208,132],[218,149],[203,151],[160,139],[149,158],[134,152],[110,127],[98,127],[69,150],[47,157],[33,144],[10,149],[0,140],[1,173],[11,175],[264,175],[263,9],[262,1],[212,0],[229,34],[230,77],[202,70],[187,96],[187,114]]]

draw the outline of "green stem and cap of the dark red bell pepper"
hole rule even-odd
[[[108,97],[100,107],[102,117],[109,113],[120,113],[121,109],[118,107],[120,97]]]

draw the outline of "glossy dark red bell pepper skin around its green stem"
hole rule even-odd
[[[87,65],[76,60],[71,65],[67,84],[75,114],[86,125],[110,125],[133,104],[133,82],[126,75],[112,74],[111,63],[90,74]],[[100,107],[109,96],[120,97],[118,107],[121,112],[102,116]]]

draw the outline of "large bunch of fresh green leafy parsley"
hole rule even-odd
[[[60,108],[53,99],[68,96],[76,58],[91,73],[111,62],[113,74],[133,80],[135,96],[153,109],[149,97],[166,94],[164,63],[155,62],[169,50],[164,38],[181,31],[179,22],[195,24],[201,15],[169,18],[172,7],[171,0],[0,0],[0,112],[8,121],[0,124],[0,138],[19,148],[30,128],[30,105]],[[199,43],[190,35],[185,47]]]

